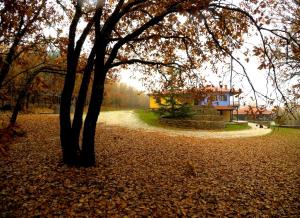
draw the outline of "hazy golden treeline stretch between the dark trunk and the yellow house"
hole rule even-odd
[[[127,84],[107,83],[103,106],[109,108],[147,108],[149,97]]]

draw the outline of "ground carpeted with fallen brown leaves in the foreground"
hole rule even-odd
[[[60,164],[56,116],[21,116],[2,217],[300,216],[300,131],[203,140],[99,125],[97,166]]]

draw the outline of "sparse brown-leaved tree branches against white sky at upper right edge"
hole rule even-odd
[[[254,3],[253,3],[254,2]],[[268,80],[274,86],[277,99],[283,102],[289,112],[292,112],[290,101],[299,99],[299,0],[292,1],[252,1],[250,12],[253,19],[258,20],[256,28],[263,39],[261,45],[256,45],[253,54],[260,58],[259,69],[268,71]]]

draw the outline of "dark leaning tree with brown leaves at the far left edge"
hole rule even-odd
[[[51,68],[57,71],[57,66],[48,63],[48,52],[50,45],[57,46],[59,41],[47,36],[45,27],[49,27],[50,23],[54,25],[62,17],[49,2],[5,0],[0,3],[1,95],[12,88],[15,80],[20,87],[16,91],[18,97],[10,119],[11,125],[16,123],[22,102],[35,76],[42,71],[50,72]]]

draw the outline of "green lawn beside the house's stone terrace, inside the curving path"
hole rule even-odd
[[[160,125],[159,123],[158,113],[149,110],[143,110],[143,109],[136,110],[135,112],[138,115],[138,117],[148,125],[162,127],[162,125]],[[171,127],[166,127],[166,128],[171,128]],[[224,131],[239,131],[245,129],[251,129],[251,127],[248,125],[226,124]]]

